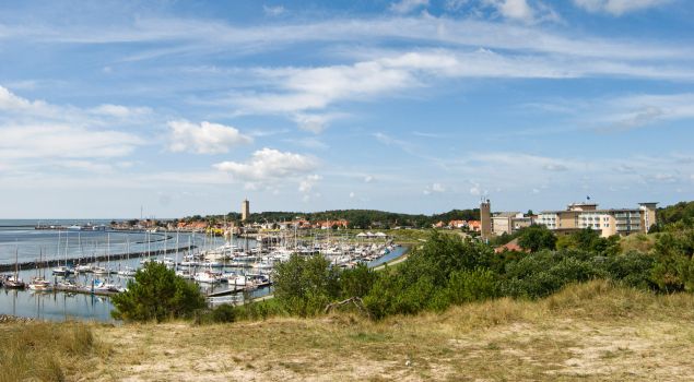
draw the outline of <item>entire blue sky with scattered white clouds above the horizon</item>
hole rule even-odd
[[[694,195],[689,0],[0,1],[0,217]]]

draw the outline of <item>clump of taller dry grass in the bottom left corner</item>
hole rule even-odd
[[[0,382],[64,381],[107,355],[86,324],[0,324]]]

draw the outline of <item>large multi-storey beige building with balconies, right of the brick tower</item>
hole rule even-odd
[[[538,214],[537,224],[551,230],[569,234],[585,228],[600,231],[601,237],[647,232],[656,224],[656,205],[639,203],[638,208],[599,210],[595,203],[572,203],[565,211]]]

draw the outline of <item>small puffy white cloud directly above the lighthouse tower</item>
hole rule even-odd
[[[318,167],[318,160],[310,156],[266,147],[256,151],[246,163],[222,162],[213,167],[228,172],[237,180],[269,182],[305,176]]]

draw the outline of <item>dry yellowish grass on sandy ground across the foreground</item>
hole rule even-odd
[[[694,370],[694,296],[607,282],[383,322],[336,314],[93,330],[111,354],[68,379],[684,381]]]

